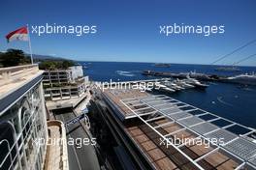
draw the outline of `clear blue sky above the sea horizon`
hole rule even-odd
[[[25,24],[97,25],[97,34],[31,34],[33,53],[82,61],[132,61],[209,64],[256,39],[255,0],[73,0],[1,2],[0,50],[26,42],[7,43],[5,35]],[[159,25],[225,25],[225,34],[159,34]],[[232,64],[256,53],[256,43],[218,64]],[[240,65],[256,66],[256,57]]]

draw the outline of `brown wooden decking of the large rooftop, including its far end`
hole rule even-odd
[[[130,104],[129,108],[121,102],[121,99],[137,98],[150,96],[147,93],[142,93],[138,90],[126,90],[126,91],[107,91],[105,95],[116,104],[119,112],[123,116],[132,115],[132,109],[141,109],[146,107],[139,104],[141,108],[137,105]],[[128,103],[129,104],[129,103]],[[150,111],[149,111],[150,112]],[[136,117],[136,116],[135,116]],[[144,115],[146,118],[146,115]],[[146,119],[145,119],[146,120]],[[178,141],[195,141],[199,136],[190,131],[189,129],[182,128],[175,122],[171,122],[170,119],[163,117],[156,120],[151,120],[148,124],[153,127],[150,128],[140,119],[129,119],[125,123],[125,130],[129,137],[135,142],[137,147],[141,150],[143,155],[152,164],[152,166],[157,170],[173,170],[173,169],[199,169],[196,167],[189,159],[183,156],[180,152],[176,150],[175,147],[169,145],[163,145],[161,136],[153,129],[157,128],[157,131],[162,135],[167,135],[168,138],[173,141],[176,139]],[[177,130],[177,131],[176,131]],[[176,132],[175,132],[176,131]],[[174,133],[175,132],[175,133]],[[170,134],[172,133],[172,134]],[[181,144],[181,143],[180,143]],[[214,148],[208,146],[208,143],[185,143],[179,148],[182,153],[189,156],[193,160],[205,156]],[[204,169],[223,169],[230,170],[236,169],[240,165],[231,156],[226,156],[220,150],[212,152],[208,156],[205,156],[198,161],[198,164]]]

